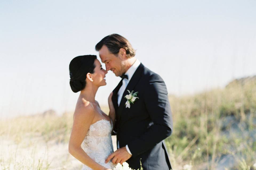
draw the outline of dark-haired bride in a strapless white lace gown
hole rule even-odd
[[[100,86],[106,85],[107,71],[96,56],[86,55],[73,58],[69,64],[70,87],[79,92],[73,127],[69,140],[69,153],[83,163],[82,170],[111,170],[115,165],[105,163],[113,153],[111,131],[115,124],[115,110],[109,96],[109,116],[95,100]]]

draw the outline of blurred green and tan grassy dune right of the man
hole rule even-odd
[[[174,128],[165,141],[174,167],[187,163],[197,169],[219,169],[222,160],[226,169],[253,169],[255,76],[234,80],[224,89],[169,100]]]

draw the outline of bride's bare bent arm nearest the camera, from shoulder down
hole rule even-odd
[[[95,170],[110,170],[91,159],[81,148],[81,144],[94,119],[94,109],[83,99],[83,106],[74,113],[74,122],[69,140],[69,153],[83,164]]]

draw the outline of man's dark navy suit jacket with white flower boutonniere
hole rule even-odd
[[[133,169],[170,170],[164,139],[173,129],[173,121],[166,85],[163,79],[142,63],[127,85],[120,105],[117,93],[122,81],[113,90],[112,101],[116,112],[113,135],[117,135],[119,146],[128,145],[131,158],[126,162]],[[127,91],[138,92],[137,99],[130,108],[125,107]]]

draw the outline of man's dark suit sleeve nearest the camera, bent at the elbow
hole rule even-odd
[[[143,98],[153,125],[143,135],[128,144],[133,156],[142,154],[169,137],[173,129],[166,85],[159,75],[151,76],[145,87]]]

